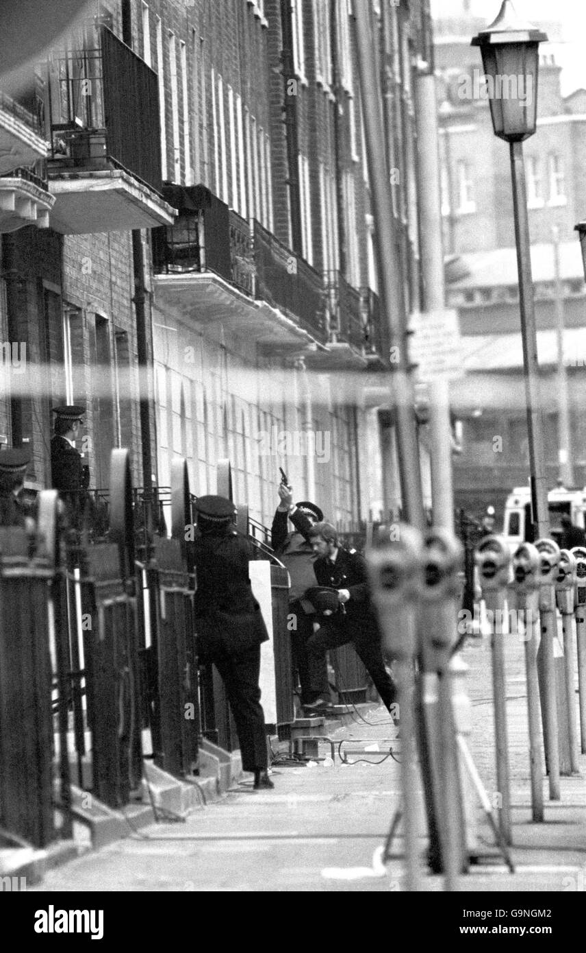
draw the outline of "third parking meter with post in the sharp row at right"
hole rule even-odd
[[[539,626],[541,640],[537,649],[537,677],[543,722],[545,768],[549,778],[550,801],[559,801],[559,746],[556,700],[554,639],[557,635],[556,588],[559,548],[553,539],[538,539],[539,554]]]

